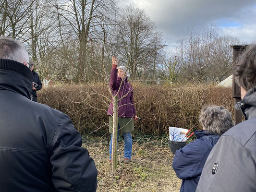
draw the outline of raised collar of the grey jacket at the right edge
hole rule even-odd
[[[242,101],[237,102],[235,108],[242,112],[245,120],[256,117],[256,88],[249,89]]]

